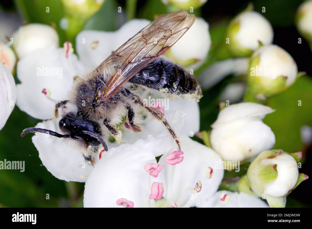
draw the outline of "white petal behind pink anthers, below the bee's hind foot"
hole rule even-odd
[[[214,163],[221,158],[212,149],[193,141],[188,136],[181,135],[180,140],[181,150],[184,152],[183,162],[168,165],[165,163],[168,154],[163,155],[159,163],[165,166],[157,181],[163,183],[165,187],[163,197],[170,200],[170,203],[177,203],[178,207],[185,204],[187,207],[197,206],[217,191],[224,171],[214,169],[207,176],[207,169],[213,168]],[[194,193],[198,181],[201,182],[202,188],[200,192]]]

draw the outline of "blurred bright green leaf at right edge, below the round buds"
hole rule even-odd
[[[304,147],[300,127],[312,126],[312,79],[301,76],[286,91],[269,98],[266,105],[275,109],[264,122],[275,134],[275,149],[297,152]],[[301,106],[300,106],[301,105]]]

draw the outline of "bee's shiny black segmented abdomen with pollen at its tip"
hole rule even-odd
[[[191,74],[178,64],[160,57],[141,69],[129,82],[164,93],[201,97],[200,85]]]

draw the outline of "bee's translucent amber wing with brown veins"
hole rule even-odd
[[[114,66],[101,90],[99,100],[107,100],[118,88],[152,60],[167,51],[193,25],[195,16],[186,11],[160,15],[113,52],[103,65]]]

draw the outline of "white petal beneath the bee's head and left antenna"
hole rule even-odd
[[[40,122],[36,127],[60,133],[58,121]],[[93,165],[85,160],[74,140],[35,133],[32,142],[39,152],[42,164],[58,179],[85,182],[93,170]]]

